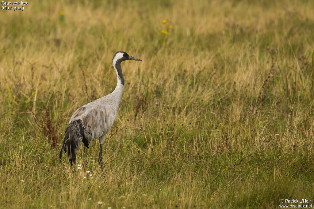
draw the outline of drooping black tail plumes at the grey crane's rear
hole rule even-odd
[[[72,166],[76,161],[76,152],[79,143],[83,141],[84,146],[88,148],[88,140],[84,135],[84,129],[84,125],[80,119],[68,124],[68,127],[65,129],[63,143],[59,154],[60,162],[62,152],[68,152],[68,159]]]

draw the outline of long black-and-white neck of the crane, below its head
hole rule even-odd
[[[112,95],[115,98],[115,102],[116,102],[116,108],[119,107],[121,99],[122,99],[122,94],[123,94],[123,88],[124,88],[124,79],[123,79],[123,74],[122,74],[122,69],[121,69],[121,61],[116,61],[113,60],[112,61],[113,67],[116,70],[116,74],[117,74],[117,86],[115,88],[115,90],[112,92]]]

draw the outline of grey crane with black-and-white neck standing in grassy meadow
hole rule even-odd
[[[68,126],[65,130],[62,147],[59,153],[59,163],[61,163],[62,153],[68,153],[68,160],[71,167],[76,161],[76,155],[81,142],[84,144],[83,163],[85,156],[85,148],[89,147],[91,140],[99,138],[99,156],[98,163],[102,166],[102,146],[106,138],[106,134],[110,131],[116,122],[117,110],[120,106],[124,79],[121,69],[121,62],[125,60],[138,60],[124,51],[117,51],[113,58],[112,64],[117,75],[117,85],[110,94],[96,99],[93,102],[79,107],[72,115]]]

